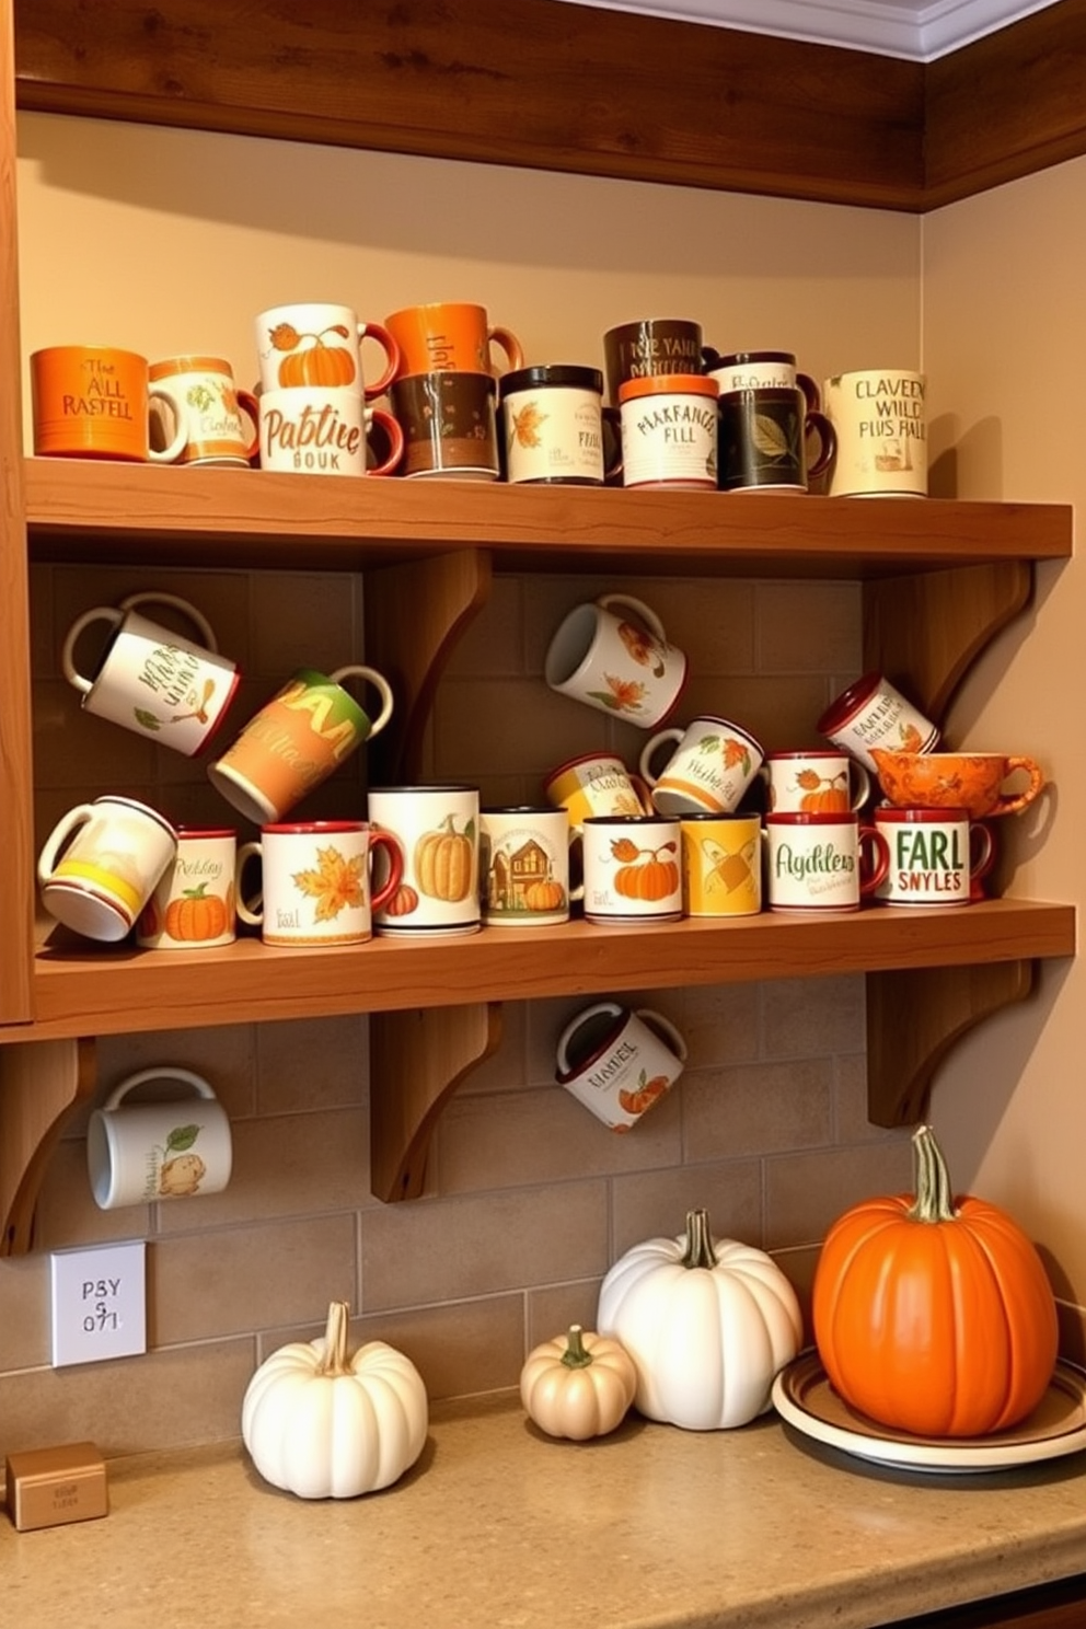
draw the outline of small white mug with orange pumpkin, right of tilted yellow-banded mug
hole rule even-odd
[[[234,940],[238,834],[177,826],[177,854],[140,911],[145,950],[213,950]]]

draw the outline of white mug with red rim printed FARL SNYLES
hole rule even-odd
[[[967,906],[995,863],[992,832],[964,810],[882,806],[874,824],[891,850],[874,891],[887,906]]]

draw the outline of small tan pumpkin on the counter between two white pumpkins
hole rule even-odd
[[[588,1442],[625,1419],[637,1370],[620,1341],[570,1324],[568,1336],[544,1341],[521,1370],[521,1403],[549,1437]]]

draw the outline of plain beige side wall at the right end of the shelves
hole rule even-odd
[[[966,498],[1086,502],[1075,375],[1086,344],[1086,161],[930,215],[923,342],[931,407],[957,448]],[[1040,567],[1032,609],[995,642],[951,707],[956,743],[1031,753],[1042,803],[1000,828],[1014,893],[1086,901],[1086,582],[1081,559]],[[935,1116],[962,1186],[1009,1205],[1053,1279],[1086,1302],[1083,964],[1047,964],[1027,1007],[982,1026],[948,1062]]]

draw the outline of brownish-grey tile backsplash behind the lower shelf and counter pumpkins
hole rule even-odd
[[[633,766],[643,731],[542,681],[563,613],[614,586],[498,577],[440,684],[422,779],[469,780],[484,803],[537,801],[544,774],[578,753],[611,749]],[[819,712],[860,671],[855,583],[620,586],[690,656],[681,717],[723,714],[769,749],[816,743]],[[363,656],[365,580],[353,575],[34,567],[39,841],[65,808],[107,790],[181,821],[223,821],[207,753],[184,759],[81,714],[60,674],[75,616],[137,588],[179,593],[208,616],[244,674],[231,720],[298,665]],[[314,816],[361,813],[365,761],[309,803]],[[627,1137],[554,1082],[555,1038],[588,1000],[505,1005],[497,1052],[438,1124],[423,1197],[394,1205],[370,1192],[363,1016],[147,1034],[134,1013],[137,1033],[99,1039],[98,1098],[153,1064],[210,1080],[231,1117],[233,1178],[184,1205],[101,1212],[86,1179],[88,1111],[67,1127],[34,1254],[0,1261],[0,1453],[83,1437],[107,1455],[234,1437],[256,1363],[319,1334],[331,1298],[350,1302],[355,1341],[409,1352],[431,1398],[513,1386],[531,1344],[571,1319],[591,1326],[611,1261],[679,1233],[689,1207],[705,1205],[718,1235],[775,1251],[804,1295],[832,1217],[909,1184],[907,1132],[866,1122],[861,977],[635,992],[679,1026],[690,1056]],[[147,1357],[52,1370],[49,1251],[134,1236],[148,1240]]]

